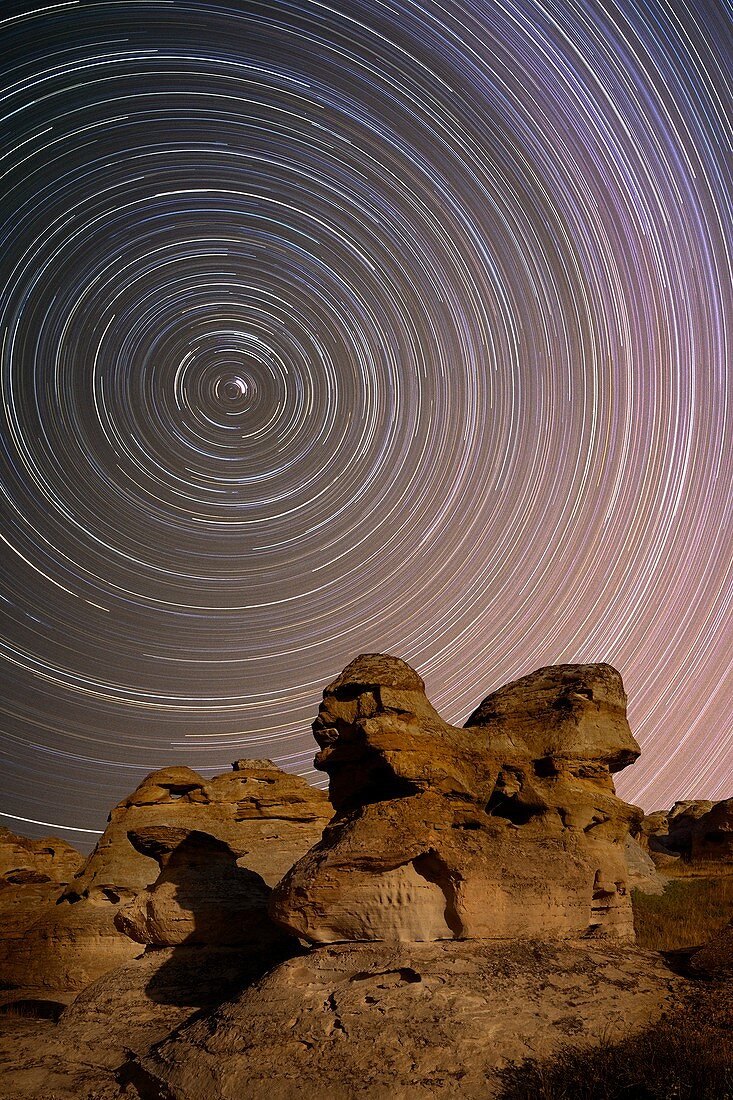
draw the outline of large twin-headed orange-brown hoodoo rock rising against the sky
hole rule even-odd
[[[357,658],[314,724],[337,816],[273,916],[316,944],[633,936],[624,846],[642,813],[611,776],[639,751],[625,703],[610,666],[559,666],[461,729],[404,661]]]

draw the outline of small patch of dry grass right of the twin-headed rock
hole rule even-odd
[[[700,947],[733,920],[733,875],[671,879],[663,894],[633,893],[636,943],[653,952]]]

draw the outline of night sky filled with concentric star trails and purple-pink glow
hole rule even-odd
[[[733,795],[731,22],[3,0],[0,824],[322,785],[362,651],[609,661],[622,795]]]

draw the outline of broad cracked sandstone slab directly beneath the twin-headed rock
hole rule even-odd
[[[680,983],[609,941],[341,944],[281,964],[130,1078],[168,1100],[490,1100],[511,1062],[633,1034]]]

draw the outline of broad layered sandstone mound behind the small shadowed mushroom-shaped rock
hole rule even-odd
[[[11,985],[75,990],[140,954],[114,917],[155,882],[161,868],[152,848],[135,847],[130,834],[156,827],[206,834],[233,854],[223,862],[239,859],[272,887],[320,838],[331,813],[322,791],[269,760],[240,760],[214,779],[185,767],[152,772],[112,810],[58,903],[35,914],[4,961],[0,952],[0,974]]]

